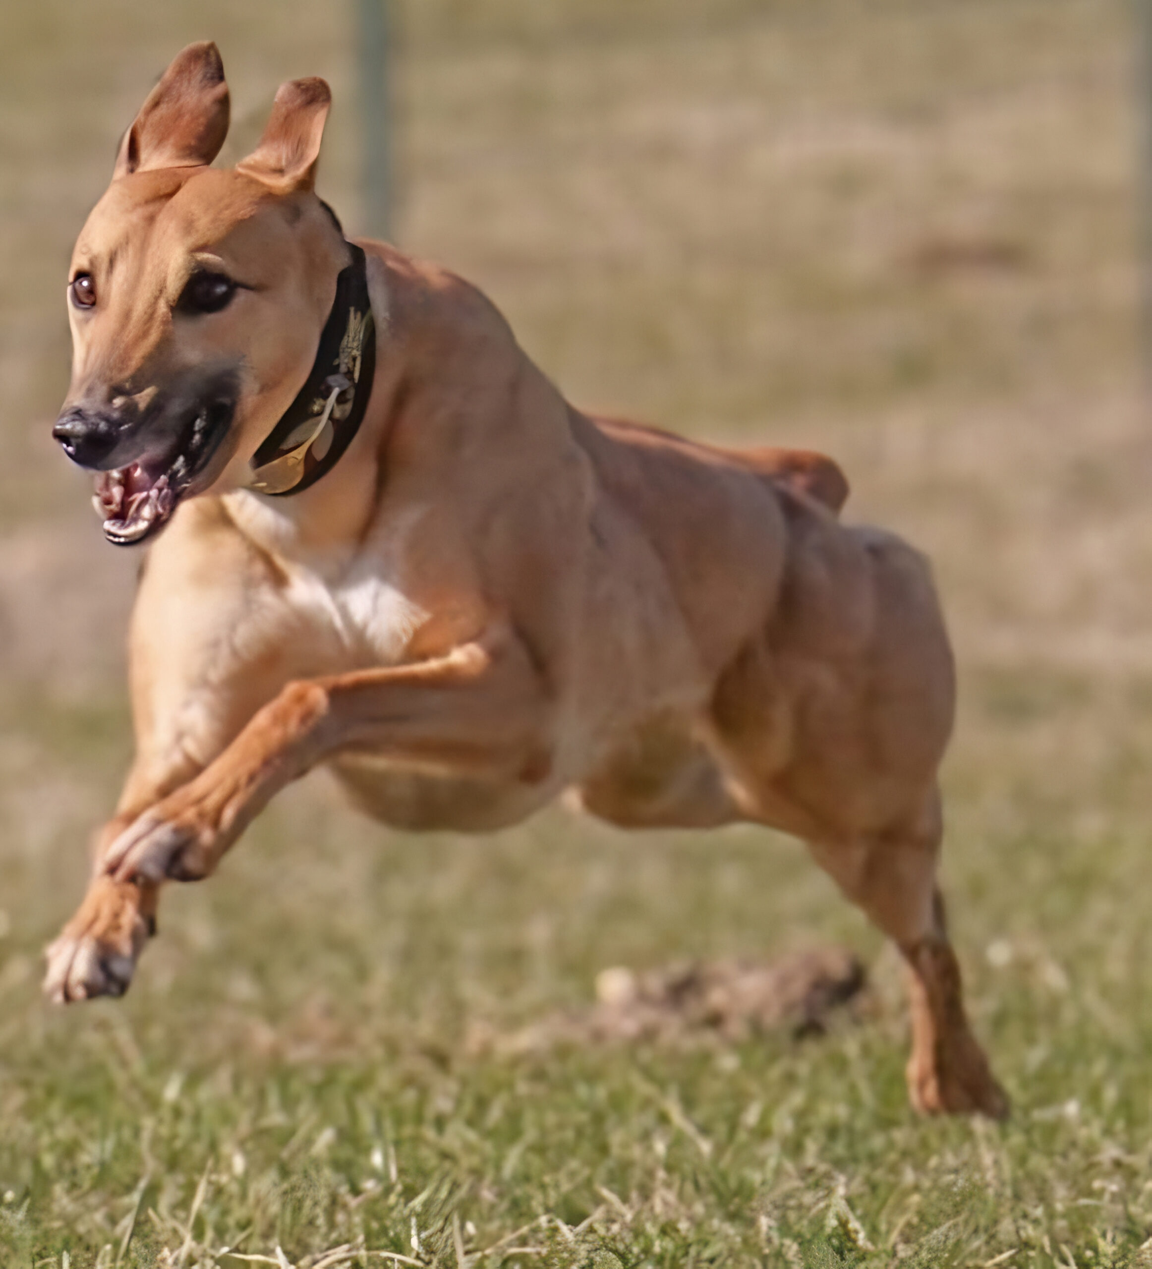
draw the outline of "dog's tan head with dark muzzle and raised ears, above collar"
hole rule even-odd
[[[307,378],[348,263],[313,193],[330,100],[324,80],[284,84],[256,150],[211,168],[228,89],[216,46],[190,44],[124,135],[72,254],[72,382],[53,429],[100,473],[112,542],[245,483]]]

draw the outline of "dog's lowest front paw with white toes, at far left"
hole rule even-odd
[[[57,1004],[122,996],[155,919],[138,886],[98,877],[80,910],[46,949],[44,994]]]

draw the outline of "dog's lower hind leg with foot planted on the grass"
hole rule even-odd
[[[816,862],[900,948],[912,1013],[908,1095],[925,1114],[1002,1119],[1009,1101],[964,1011],[960,970],[936,886],[939,798],[919,819],[853,841],[809,843]]]

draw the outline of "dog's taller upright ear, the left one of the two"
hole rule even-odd
[[[189,44],[148,94],[121,141],[113,176],[154,168],[199,168],[228,132],[228,85],[216,44]]]

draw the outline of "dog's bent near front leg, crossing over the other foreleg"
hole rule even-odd
[[[415,665],[291,683],[195,779],[114,841],[115,884],[207,877],[269,799],[339,751],[509,782],[549,774],[546,694],[513,636]]]

